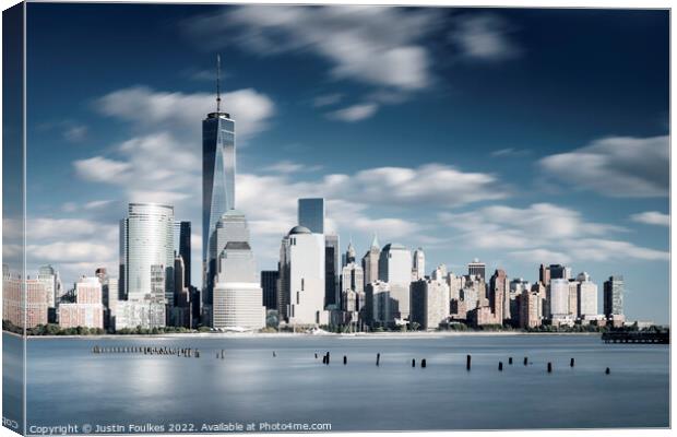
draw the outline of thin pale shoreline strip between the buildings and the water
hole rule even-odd
[[[430,339],[452,336],[509,336],[509,335],[602,335],[601,332],[511,332],[511,331],[430,331],[430,332],[356,332],[356,333],[321,333],[311,334],[306,332],[190,332],[190,333],[162,333],[162,334],[104,334],[104,335],[21,335],[10,331],[3,333],[15,335],[26,340],[123,340],[123,339]]]

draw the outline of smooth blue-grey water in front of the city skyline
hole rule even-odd
[[[202,356],[93,354],[95,344],[190,346]],[[217,359],[222,349],[225,359]],[[329,366],[314,358],[325,351],[332,356]],[[466,354],[473,356],[471,371],[465,370]],[[524,356],[533,364],[523,366]],[[412,368],[412,358],[426,358],[427,368]],[[295,422],[330,423],[332,430],[391,430],[669,425],[669,347],[604,344],[597,335],[35,339],[27,343],[27,359],[28,426],[153,422],[199,428],[219,422]],[[499,361],[503,371],[498,371]],[[554,365],[551,374],[547,362]],[[606,367],[610,375],[604,374]]]

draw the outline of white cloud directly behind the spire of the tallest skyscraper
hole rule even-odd
[[[207,93],[185,94],[133,86],[103,96],[97,101],[96,108],[106,116],[130,121],[144,129],[190,129],[199,132],[199,120],[216,110],[216,99]],[[238,139],[265,129],[275,113],[273,101],[252,88],[222,94],[222,108],[231,113]]]

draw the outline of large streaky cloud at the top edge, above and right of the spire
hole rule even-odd
[[[371,7],[245,5],[186,22],[212,48],[234,45],[261,55],[312,52],[330,74],[367,84],[420,90],[430,84],[430,55],[419,43],[436,11]]]

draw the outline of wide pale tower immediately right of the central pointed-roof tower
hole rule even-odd
[[[412,284],[412,252],[396,243],[383,247],[379,257],[379,280],[390,285],[394,300],[393,312],[399,319],[409,317],[409,285]]]

